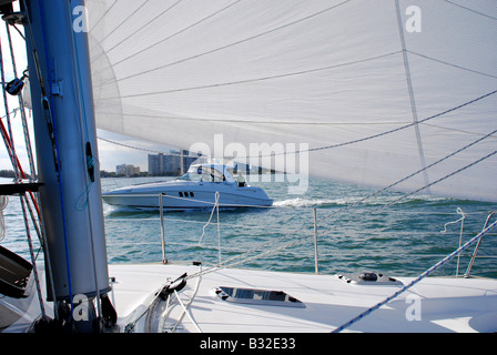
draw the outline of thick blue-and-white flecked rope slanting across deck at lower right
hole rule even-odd
[[[382,307],[383,305],[387,304],[388,302],[390,302],[392,300],[396,298],[398,295],[400,295],[402,293],[406,292],[407,290],[409,290],[410,287],[413,287],[414,285],[416,285],[418,282],[420,282],[423,278],[427,277],[428,275],[430,275],[433,272],[435,272],[436,270],[438,270],[439,267],[444,266],[447,262],[449,262],[450,260],[453,260],[455,256],[459,255],[462,252],[464,252],[465,250],[467,250],[469,246],[471,246],[474,243],[476,243],[478,240],[480,240],[485,234],[487,234],[489,231],[491,231],[495,226],[497,225],[497,221],[494,222],[491,225],[489,225],[487,229],[485,229],[484,231],[481,231],[480,233],[478,233],[476,236],[474,236],[470,241],[468,241],[466,244],[464,244],[463,246],[458,247],[455,252],[453,252],[452,254],[447,255],[446,257],[444,257],[442,261],[439,261],[438,263],[436,263],[435,265],[433,265],[432,267],[429,267],[427,271],[425,271],[423,274],[420,274],[419,276],[417,276],[415,280],[413,280],[410,283],[408,283],[406,286],[402,287],[400,290],[398,290],[397,292],[395,292],[394,294],[392,294],[390,296],[386,297],[384,301],[377,303],[376,305],[374,305],[373,307],[366,310],[365,312],[361,313],[359,315],[357,315],[356,317],[352,318],[351,321],[348,321],[347,323],[338,326],[335,331],[333,331],[332,333],[339,333],[342,331],[344,331],[345,328],[349,327],[351,325],[353,325],[354,323],[363,320],[364,317],[366,317],[367,315],[372,314],[374,311],[378,310],[379,307]]]

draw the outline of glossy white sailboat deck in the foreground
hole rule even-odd
[[[149,307],[168,278],[199,272],[185,265],[110,265],[115,277],[111,295],[124,329]],[[199,278],[187,281],[179,292],[183,304],[194,295]],[[171,331],[204,333],[320,333],[342,324],[384,301],[412,278],[397,283],[347,283],[337,275],[312,275],[257,270],[217,270],[202,276],[189,314],[171,296],[165,321],[143,315],[134,332]],[[217,287],[283,291],[304,307],[244,304],[223,301]],[[257,303],[257,301],[255,301]],[[159,314],[166,302],[156,304]],[[155,322],[155,323],[154,323]],[[159,326],[159,328],[158,328]],[[495,332],[497,331],[497,281],[481,278],[426,278],[373,312],[345,332]]]

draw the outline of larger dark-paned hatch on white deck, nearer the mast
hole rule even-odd
[[[253,290],[221,286],[214,290],[216,295],[226,302],[305,308],[305,304],[283,291]]]

